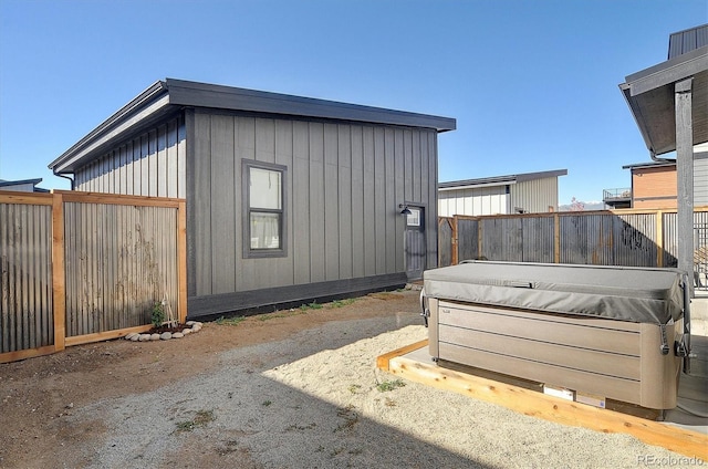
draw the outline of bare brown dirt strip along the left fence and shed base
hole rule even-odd
[[[383,306],[386,308],[383,308]],[[205,323],[196,334],[171,341],[115,340],[79,345],[54,355],[0,364],[0,467],[51,467],[49,460],[72,461],[72,448],[105,431],[102,418],[76,425],[79,407],[105,398],[147,393],[218,365],[223,351],[278,342],[332,321],[352,321],[417,311],[416,292],[375,293],[354,301]],[[253,366],[258,366],[254,363]],[[9,429],[9,431],[8,431]],[[222,452],[238,454],[226,441]],[[189,454],[188,448],[183,449]],[[241,455],[243,456],[243,455]],[[248,466],[248,465],[247,465]]]

